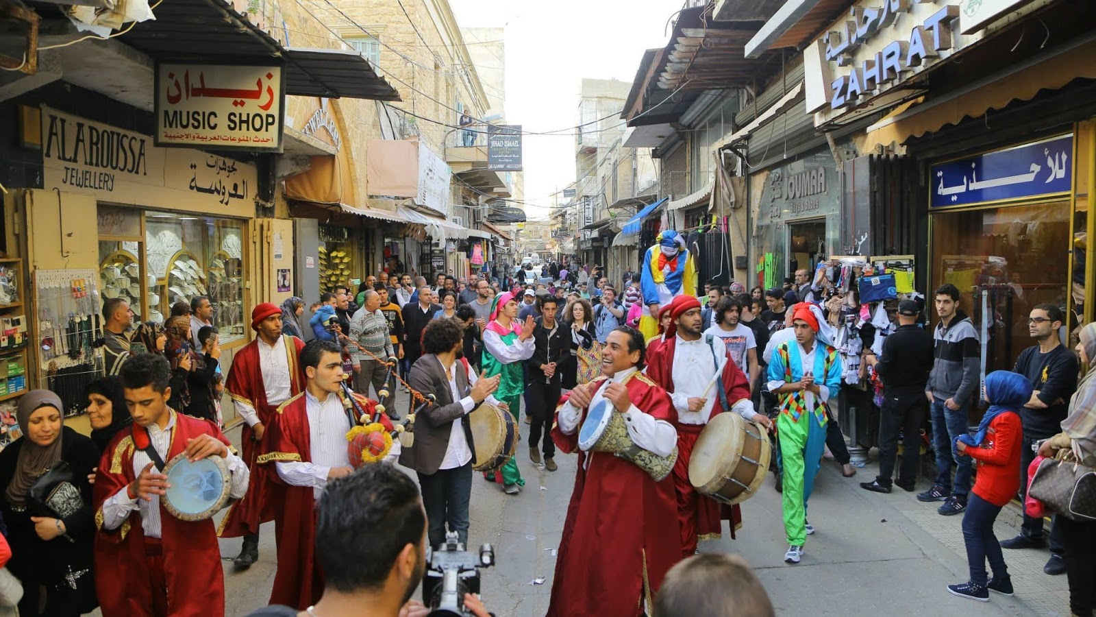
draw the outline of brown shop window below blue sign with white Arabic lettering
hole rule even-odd
[[[1047,256],[1070,246],[1068,201],[935,214],[932,246],[929,291],[959,288],[960,310],[987,335],[986,372],[1012,369],[1031,345],[1032,306],[1066,304],[1069,260]],[[983,315],[992,315],[984,330]]]

